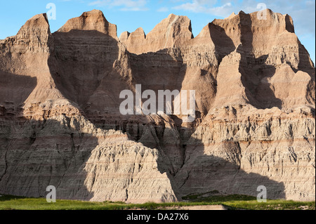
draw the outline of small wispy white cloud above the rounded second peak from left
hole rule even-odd
[[[147,11],[147,0],[98,0],[89,4],[90,6],[108,6],[119,8],[121,11]]]

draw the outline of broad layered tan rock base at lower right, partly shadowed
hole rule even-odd
[[[180,195],[208,189],[256,196],[264,185],[269,198],[312,200],[315,121],[311,115],[302,119],[306,112],[212,110],[187,142],[187,159],[175,178]]]

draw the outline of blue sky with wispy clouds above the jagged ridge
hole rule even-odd
[[[296,34],[308,49],[315,63],[315,0],[277,1],[277,0],[18,0],[1,1],[0,4],[0,39],[15,35],[20,27],[33,15],[47,13],[48,3],[56,6],[56,20],[50,20],[51,32],[70,18],[81,15],[84,11],[100,9],[105,18],[117,25],[121,32],[133,32],[143,27],[147,34],[170,13],[187,15],[192,20],[195,37],[202,28],[215,18],[225,18],[232,12],[252,13],[259,3],[265,4],[272,11],[289,14],[294,19]]]

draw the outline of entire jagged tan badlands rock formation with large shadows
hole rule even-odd
[[[315,67],[289,15],[232,13],[197,36],[169,15],[117,37],[101,11],[0,40],[0,193],[173,202],[315,199]],[[196,119],[119,112],[122,90],[195,90]]]

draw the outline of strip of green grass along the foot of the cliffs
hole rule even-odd
[[[246,195],[188,195],[189,202],[176,203],[145,203],[125,204],[123,202],[81,202],[70,200],[57,200],[56,203],[47,203],[45,198],[27,198],[12,195],[0,197],[0,210],[124,210],[124,209],[174,209],[178,206],[218,205],[222,204],[228,209],[250,210],[315,210],[315,202],[294,202],[285,200],[268,200],[267,203],[257,202],[255,197]]]

